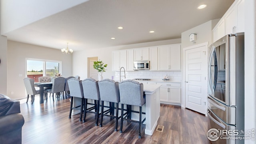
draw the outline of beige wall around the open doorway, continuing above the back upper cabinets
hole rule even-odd
[[[112,51],[113,50],[123,50],[130,48],[142,48],[147,46],[159,46],[165,44],[178,44],[180,43],[180,38],[173,40],[162,40],[156,42],[146,42],[140,44],[130,44],[124,46],[115,46],[109,48],[99,48],[93,50],[83,50],[79,52],[74,52],[73,54],[73,74],[79,75],[81,80],[87,78],[87,58],[90,57],[98,57],[98,59],[102,60],[104,64],[108,64],[106,68],[106,72],[103,73],[103,78],[111,79],[111,76],[115,75],[115,72],[112,72]]]

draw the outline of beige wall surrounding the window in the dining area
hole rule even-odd
[[[23,78],[25,78],[26,58],[56,60],[62,62],[62,76],[72,75],[72,55],[62,54],[60,50],[21,42],[7,41],[7,96],[12,99],[26,97]],[[19,76],[22,75],[22,76]],[[13,94],[11,94],[13,92]]]

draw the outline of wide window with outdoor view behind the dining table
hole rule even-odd
[[[26,58],[26,76],[38,82],[41,76],[54,77],[56,73],[61,73],[61,62],[53,60],[38,60]]]

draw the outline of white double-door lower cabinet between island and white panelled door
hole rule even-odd
[[[160,102],[164,104],[181,104],[181,84],[171,82],[157,82],[160,87]]]

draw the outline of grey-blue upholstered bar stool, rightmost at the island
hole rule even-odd
[[[143,94],[143,84],[140,82],[136,82],[134,80],[124,80],[119,82],[119,92],[120,92],[120,103],[122,104],[121,108],[121,126],[120,126],[120,133],[122,133],[123,128],[123,121],[128,120],[130,122],[139,123],[139,138],[141,138],[141,124],[146,120],[142,119],[142,105],[145,104],[145,98]],[[124,104],[126,105],[133,105],[139,106],[140,111],[132,111],[131,106],[128,108],[128,112],[126,116],[124,116]],[[139,121],[131,120],[131,113],[136,112],[140,114]]]

